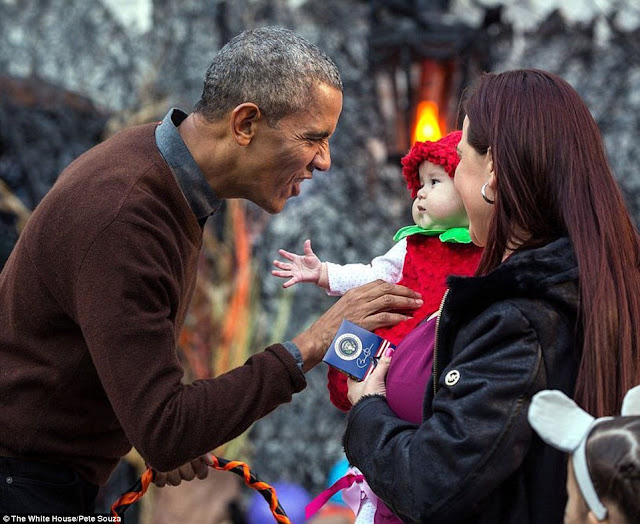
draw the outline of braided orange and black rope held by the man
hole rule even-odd
[[[258,493],[260,493],[269,503],[271,513],[277,522],[280,522],[281,524],[291,524],[291,520],[287,517],[284,508],[278,502],[276,490],[266,482],[261,481],[258,476],[251,471],[247,464],[238,460],[230,461],[216,457],[213,454],[210,455],[210,457],[213,464],[210,464],[209,467],[220,471],[231,471],[232,473],[241,476],[247,486],[258,491]],[[124,493],[113,503],[111,506],[111,515],[114,517],[122,517],[131,504],[134,504],[142,498],[142,496],[147,492],[152,481],[153,470],[149,468],[142,474],[142,477],[140,477],[129,491]]]

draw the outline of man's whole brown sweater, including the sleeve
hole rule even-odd
[[[133,445],[167,471],[306,385],[280,344],[182,383],[176,341],[202,233],[154,129],[75,160],[0,274],[0,456],[67,464],[104,484]]]

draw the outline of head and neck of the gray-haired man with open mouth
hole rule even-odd
[[[218,53],[178,130],[218,198],[279,213],[314,170],[329,169],[341,110],[329,57],[291,31],[262,28]]]

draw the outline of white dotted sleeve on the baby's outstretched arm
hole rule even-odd
[[[374,258],[370,264],[334,264],[327,262],[329,289],[327,294],[344,295],[354,287],[382,279],[395,284],[402,278],[407,240],[402,239],[384,255]]]

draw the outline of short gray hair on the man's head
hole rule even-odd
[[[338,68],[317,46],[282,27],[243,31],[209,65],[195,111],[218,120],[238,105],[253,102],[274,126],[307,107],[318,83],[342,91]]]

